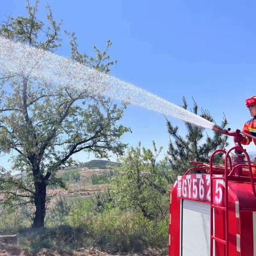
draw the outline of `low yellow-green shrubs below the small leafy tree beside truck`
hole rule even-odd
[[[151,221],[140,212],[106,211],[89,227],[101,250],[143,252],[147,247],[167,248],[168,218]]]

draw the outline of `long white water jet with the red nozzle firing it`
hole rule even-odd
[[[256,139],[240,130],[226,130],[189,112],[153,93],[131,83],[103,74],[81,63],[61,57],[52,52],[37,49],[23,43],[13,42],[0,36],[0,74],[39,79],[56,86],[74,87],[94,95],[105,95],[158,113],[179,118],[185,122],[210,129],[221,134],[241,138],[242,134]]]

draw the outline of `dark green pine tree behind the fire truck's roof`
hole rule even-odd
[[[185,109],[188,108],[185,97],[183,97],[182,107]],[[198,106],[195,100],[193,113],[198,115]],[[207,110],[202,109],[200,116],[210,122],[214,122]],[[214,150],[225,149],[228,146],[227,135],[214,132],[213,136],[210,137],[203,127],[185,122],[187,134],[185,137],[182,137],[178,133],[179,127],[173,126],[167,119],[166,121],[170,134],[167,157],[169,158],[172,170],[177,171],[177,174],[184,174],[190,168],[189,162],[209,162]],[[220,126],[225,128],[227,124],[227,119],[224,116]],[[217,161],[221,162],[222,159],[219,158]]]

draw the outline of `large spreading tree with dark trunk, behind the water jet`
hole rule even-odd
[[[27,17],[9,17],[2,23],[0,35],[45,51],[54,52],[61,46],[61,22],[55,22],[50,6],[47,24],[37,20],[39,0],[34,6],[27,2]],[[96,57],[78,51],[74,33],[70,37],[71,59],[104,73],[115,62],[107,49],[94,46]],[[79,151],[92,151],[97,157],[108,152],[122,154],[126,145],[119,140],[129,128],[117,124],[125,105],[117,106],[103,96],[83,90],[55,86],[18,74],[0,74],[0,149],[13,155],[13,169],[23,175],[13,177],[2,172],[0,190],[8,206],[34,205],[34,227],[44,226],[46,188],[65,187],[55,173],[62,165],[72,163],[71,156]]]

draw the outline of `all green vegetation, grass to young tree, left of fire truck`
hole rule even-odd
[[[140,144],[130,148],[122,165],[108,177],[105,190],[89,198],[59,197],[46,214],[45,228],[27,228],[25,216],[19,216],[24,222],[18,224],[17,215],[9,213],[8,223],[0,217],[0,233],[19,231],[21,246],[35,252],[42,247],[81,246],[109,252],[166,249],[171,175],[166,160],[156,164],[161,150],[155,143],[154,151]]]

